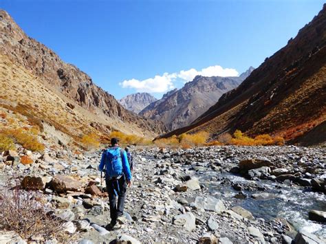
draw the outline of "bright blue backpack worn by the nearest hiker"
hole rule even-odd
[[[122,153],[120,147],[115,146],[105,150],[105,171],[106,177],[120,177],[122,173]]]

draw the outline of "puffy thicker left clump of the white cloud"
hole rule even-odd
[[[133,88],[139,92],[160,93],[175,88],[173,85],[173,80],[175,80],[175,78],[177,78],[177,75],[174,73],[164,73],[163,76],[155,76],[154,78],[148,78],[146,80],[124,80],[120,82],[119,85],[123,88]]]

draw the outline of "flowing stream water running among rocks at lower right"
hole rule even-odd
[[[254,217],[265,220],[282,217],[296,230],[313,233],[326,239],[326,225],[308,219],[309,210],[326,211],[326,197],[322,193],[307,191],[303,187],[291,186],[290,183],[279,184],[270,180],[260,180],[255,182],[266,189],[263,192],[274,195],[272,199],[252,199],[250,197],[252,194],[262,191],[246,190],[243,190],[248,195],[246,199],[235,199],[238,191],[230,185],[221,184],[223,178],[239,184],[250,183],[249,180],[231,173],[215,171],[199,173],[199,181],[208,187],[210,193],[232,202],[232,206],[242,206],[252,212]]]

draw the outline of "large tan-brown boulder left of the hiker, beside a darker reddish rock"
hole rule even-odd
[[[83,184],[73,177],[66,175],[56,175],[52,178],[50,186],[57,193],[65,193],[67,190],[80,191],[83,187]]]

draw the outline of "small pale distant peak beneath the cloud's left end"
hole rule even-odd
[[[121,98],[119,102],[122,104],[124,109],[133,111],[134,113],[139,113],[142,109],[146,108],[156,100],[157,99],[151,96],[151,94],[143,92],[125,96],[124,98]]]

